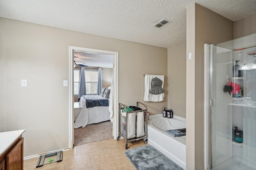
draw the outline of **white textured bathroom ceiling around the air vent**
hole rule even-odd
[[[168,48],[186,41],[193,3],[232,21],[256,13],[256,0],[0,0],[0,17]]]

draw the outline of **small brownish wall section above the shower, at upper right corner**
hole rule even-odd
[[[234,22],[234,39],[256,33],[256,14]]]

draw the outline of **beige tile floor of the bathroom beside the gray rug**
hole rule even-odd
[[[62,162],[53,162],[36,168],[38,158],[24,160],[24,170],[136,170],[125,156],[126,141],[109,139],[63,151]],[[128,149],[145,144],[143,140],[128,143]]]

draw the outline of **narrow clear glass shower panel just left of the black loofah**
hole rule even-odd
[[[232,94],[223,91],[227,79],[232,78],[232,51],[210,45],[212,52],[211,138],[212,168],[220,169],[220,163],[232,156]]]

